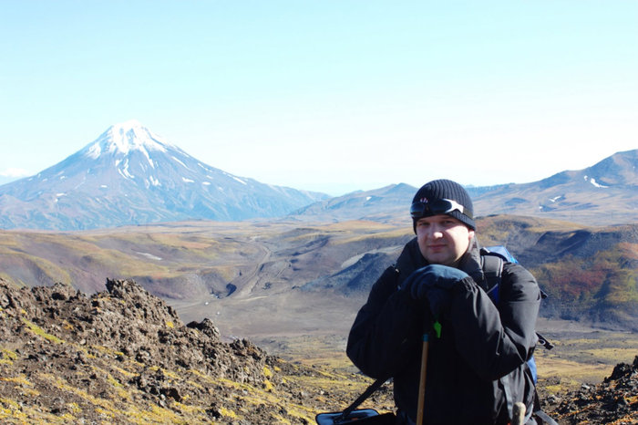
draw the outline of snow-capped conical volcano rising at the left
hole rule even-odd
[[[326,197],[221,171],[129,120],[36,176],[1,186],[0,226],[236,221],[284,215]]]

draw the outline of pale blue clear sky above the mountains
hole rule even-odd
[[[637,1],[0,6],[0,182],[129,119],[223,171],[335,195],[536,181],[638,149]]]

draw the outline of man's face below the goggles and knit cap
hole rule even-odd
[[[447,214],[424,217],[417,222],[417,243],[428,263],[456,266],[468,251],[474,231]]]

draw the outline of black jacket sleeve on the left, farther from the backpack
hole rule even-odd
[[[365,375],[394,376],[398,358],[417,341],[417,308],[405,291],[397,290],[397,272],[388,267],[373,285],[367,302],[350,329],[346,353]]]

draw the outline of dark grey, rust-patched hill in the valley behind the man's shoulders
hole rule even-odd
[[[477,223],[481,244],[506,245],[535,275],[549,295],[542,303],[543,316],[638,332],[638,224],[586,227],[510,215],[483,217]],[[395,263],[402,245],[394,242],[358,255],[302,290],[366,296],[376,278]]]

